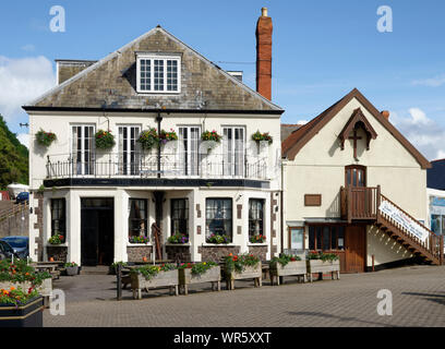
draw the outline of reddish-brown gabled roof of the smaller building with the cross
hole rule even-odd
[[[358,91],[353,88],[340,100],[332,105],[320,116],[312,119],[305,125],[293,132],[281,144],[282,157],[293,160],[296,155],[312,137],[323,129],[352,98],[357,98],[361,105],[416,158],[421,168],[431,168],[430,161],[411,144],[404,135],[382,116],[382,113]]]

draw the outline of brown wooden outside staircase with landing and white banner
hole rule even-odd
[[[437,236],[376,188],[341,188],[341,216],[349,222],[369,221],[425,263],[444,264],[444,237]],[[390,207],[390,212],[381,209]],[[396,213],[396,214],[394,214]],[[413,231],[422,231],[420,239]]]

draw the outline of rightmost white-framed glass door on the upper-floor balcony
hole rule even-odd
[[[224,128],[224,176],[244,176],[245,132],[243,127]]]

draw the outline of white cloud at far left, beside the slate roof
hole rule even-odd
[[[43,56],[12,59],[0,56],[0,113],[11,121],[22,106],[56,85],[52,63]]]

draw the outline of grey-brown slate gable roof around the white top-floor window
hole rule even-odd
[[[181,93],[137,94],[136,52],[181,55]],[[56,86],[24,109],[284,112],[160,26]]]

